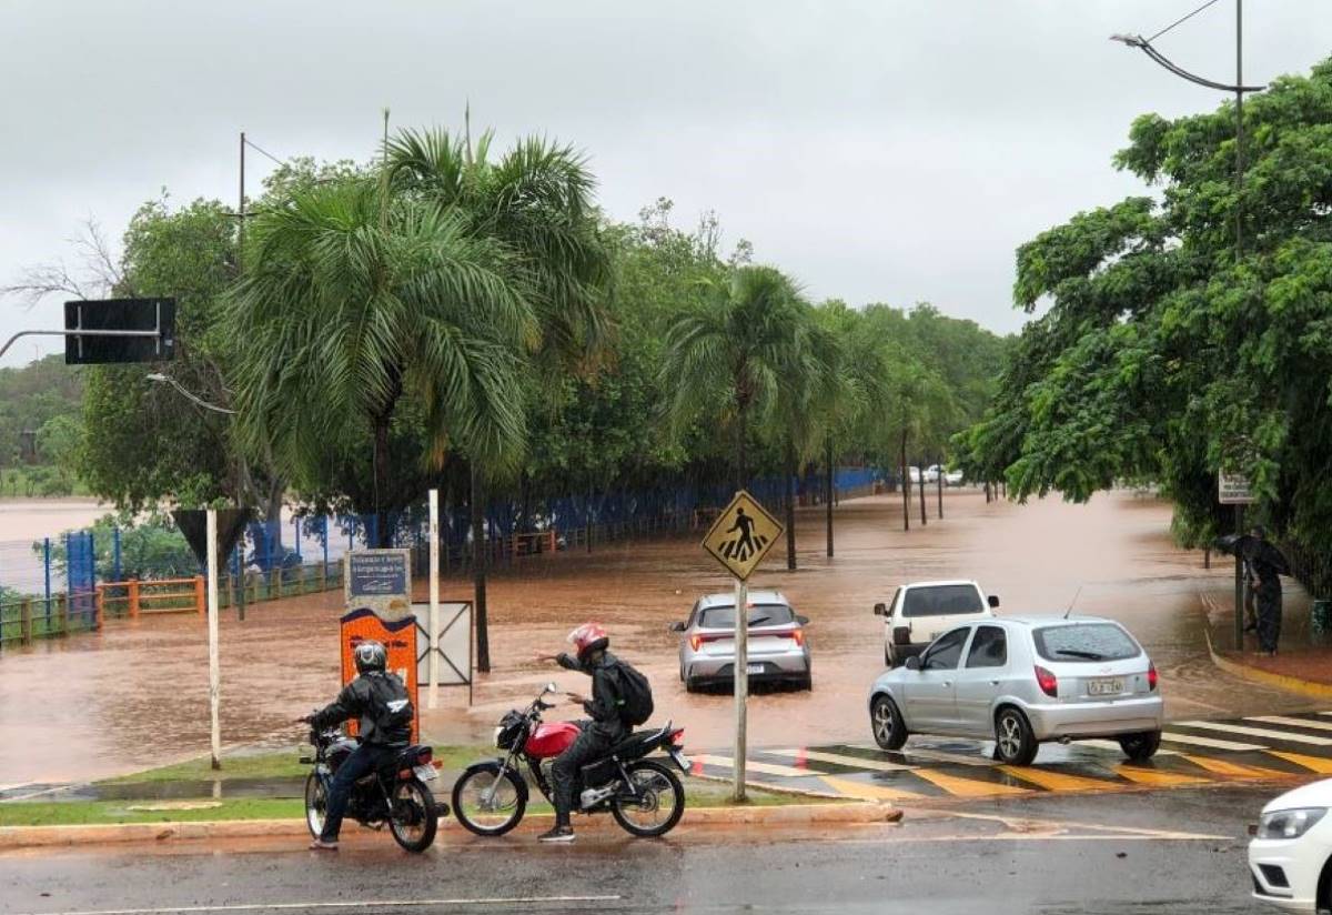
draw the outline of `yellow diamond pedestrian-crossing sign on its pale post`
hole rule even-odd
[[[745,800],[749,727],[749,577],[781,538],[782,523],[741,490],[713,522],[703,549],[735,578],[735,800]]]

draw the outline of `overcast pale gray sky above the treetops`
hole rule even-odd
[[[237,135],[366,158],[397,127],[545,132],[582,148],[611,216],[715,209],[815,298],[935,302],[998,332],[1014,249],[1142,190],[1110,165],[1135,115],[1213,108],[1142,52],[1203,0],[0,0],[0,284],[119,241],[144,200],[236,197]],[[1164,36],[1235,73],[1235,0]],[[1245,77],[1332,53],[1332,3],[1249,0]],[[250,154],[249,186],[272,165]],[[0,300],[0,336],[60,300]],[[41,344],[44,352],[59,342]],[[20,344],[3,364],[31,360]]]

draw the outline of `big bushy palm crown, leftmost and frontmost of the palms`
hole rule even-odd
[[[328,444],[372,434],[378,546],[388,519],[389,432],[421,398],[429,446],[466,442],[514,462],[523,444],[518,352],[535,333],[517,260],[456,216],[353,177],[293,190],[250,226],[229,312],[246,345],[242,429],[268,433],[292,478],[317,479]],[[358,506],[362,507],[364,506]]]

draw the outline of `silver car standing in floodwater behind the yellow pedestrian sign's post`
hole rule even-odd
[[[781,591],[750,591],[749,678],[813,687],[810,646],[805,626],[810,621],[791,609]],[[694,605],[689,619],[671,625],[679,633],[679,678],[689,693],[701,686],[735,681],[735,595],[707,594]]]

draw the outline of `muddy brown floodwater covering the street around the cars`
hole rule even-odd
[[[811,618],[814,689],[754,695],[751,745],[867,741],[866,691],[883,670],[883,623],[871,607],[902,582],[931,578],[975,578],[1000,595],[1000,613],[1062,613],[1076,597],[1079,613],[1120,619],[1162,670],[1171,717],[1308,706],[1209,663],[1201,598],[1211,594],[1227,606],[1232,566],[1208,571],[1200,553],[1175,549],[1168,505],[1111,493],[1088,505],[1043,499],[1020,506],[959,490],[947,493],[943,521],[931,517],[922,529],[912,518],[903,533],[899,498],[843,502],[834,559],[825,555],[822,509],[802,511],[801,569],[786,571],[779,545],[755,573],[751,586],[781,589]],[[581,675],[533,657],[562,650],[574,625],[598,619],[611,630],[613,650],[651,678],[657,718],[683,725],[694,749],[726,747],[733,699],[683,691],[677,635],[667,626],[683,619],[699,594],[727,589],[730,581],[694,535],[535,557],[500,570],[489,591],[494,670],[478,677],[470,709],[466,690],[441,690],[442,707],[424,713],[426,734],[445,743],[485,739],[505,710],[525,703],[547,679],[585,690]],[[425,583],[417,590],[424,599]],[[469,599],[470,586],[449,579],[442,594]],[[1288,591],[1288,606],[1300,599]],[[288,722],[337,689],[341,613],[337,593],[260,605],[244,623],[224,613],[228,746],[285,746],[301,737]],[[0,734],[0,786],[100,778],[206,753],[202,622],[193,615],[115,621],[100,634],[5,651]]]

